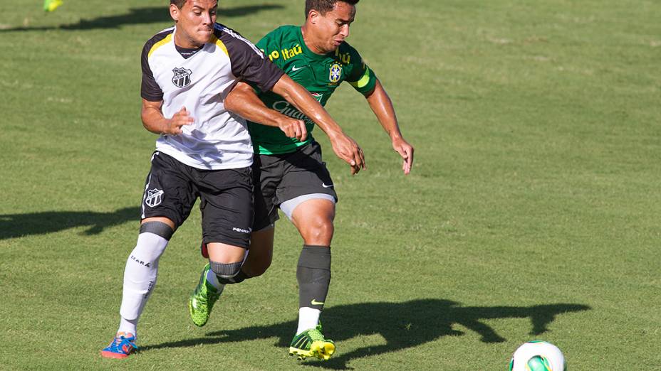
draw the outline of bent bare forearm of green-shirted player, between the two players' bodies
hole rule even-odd
[[[279,127],[283,133],[299,141],[306,140],[308,130],[303,120],[292,119],[266,107],[250,85],[239,82],[224,100],[225,108],[251,122],[269,127]]]

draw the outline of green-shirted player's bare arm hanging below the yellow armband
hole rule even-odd
[[[376,80],[374,90],[368,93],[368,95],[365,95],[365,98],[368,100],[368,104],[370,104],[370,108],[376,115],[379,123],[388,136],[390,136],[392,148],[402,156],[404,160],[402,171],[405,174],[410,173],[413,166],[413,147],[402,137],[399,124],[397,124],[395,107],[392,107],[392,101],[379,80]]]

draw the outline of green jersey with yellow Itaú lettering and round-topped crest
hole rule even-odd
[[[348,43],[340,44],[333,53],[318,55],[303,42],[298,26],[281,26],[268,33],[257,44],[271,62],[283,70],[292,80],[303,85],[321,105],[328,102],[341,82],[347,81],[355,90],[366,94],[374,89],[376,76],[360,58],[360,54]],[[279,128],[248,122],[255,152],[259,154],[286,154],[313,141],[314,122],[274,92],[257,91],[266,107],[275,109],[306,123],[308,137],[305,141],[288,138]]]

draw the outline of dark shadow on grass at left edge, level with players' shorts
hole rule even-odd
[[[28,235],[45,235],[74,227],[89,227],[85,235],[98,235],[104,228],[140,220],[140,208],[123,208],[112,213],[93,211],[45,211],[0,215],[0,240]]]

